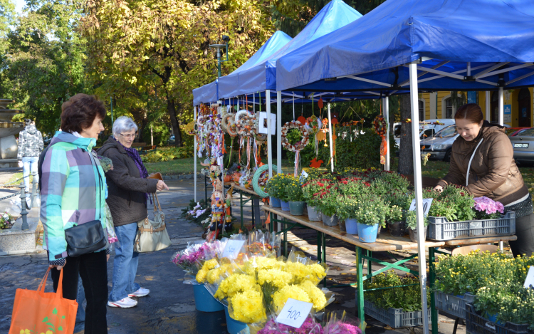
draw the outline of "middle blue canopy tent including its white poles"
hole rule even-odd
[[[320,36],[324,36],[338,28],[350,24],[351,22],[360,19],[362,14],[348,6],[342,0],[330,1],[323,9],[319,11],[317,15],[293,38],[289,43],[280,48],[276,53],[263,59],[251,68],[245,69],[238,73],[237,84],[225,84],[223,78],[221,78],[219,85],[219,98],[234,98],[239,95],[252,95],[252,98],[248,100],[256,100],[256,93],[258,98],[263,98],[267,102],[267,118],[271,116],[271,90],[276,89],[276,60],[281,56],[294,51],[302,46],[305,46],[310,41],[313,41]],[[262,93],[262,94],[259,94]],[[293,98],[293,93],[284,92],[285,95],[290,95]],[[280,129],[281,125],[281,98],[282,92],[277,92],[277,124],[276,127]],[[300,95],[300,98],[304,98]],[[272,150],[271,150],[271,122],[268,122],[268,135],[267,135],[267,147],[268,147],[268,164],[272,166]],[[277,132],[278,145],[281,142],[281,133]],[[282,152],[281,147],[278,147],[278,170],[282,167]],[[269,175],[272,176],[272,168],[269,169]]]

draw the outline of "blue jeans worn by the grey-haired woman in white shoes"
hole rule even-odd
[[[139,253],[134,251],[137,223],[115,226],[115,233],[119,239],[119,246],[115,247],[115,259],[113,260],[113,287],[109,301],[120,301],[126,298],[128,293],[139,290],[140,285],[135,283]]]

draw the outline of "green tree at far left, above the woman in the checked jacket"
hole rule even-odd
[[[48,134],[61,125],[63,102],[85,93],[85,41],[73,32],[79,19],[72,0],[28,0],[25,14],[0,38],[8,46],[0,58],[0,95],[16,100]]]

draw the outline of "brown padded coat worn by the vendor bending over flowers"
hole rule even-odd
[[[475,140],[467,142],[459,136],[452,145],[449,173],[438,184],[466,185],[469,160],[476,145],[481,145],[475,152],[469,172],[467,190],[474,197],[486,196],[494,201],[513,203],[528,194],[528,187],[513,160],[513,148],[504,128],[484,121],[481,134]]]

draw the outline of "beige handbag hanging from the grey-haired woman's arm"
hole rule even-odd
[[[154,196],[154,220],[145,218],[137,223],[137,236],[135,236],[134,251],[144,253],[147,251],[159,251],[170,246],[171,239],[165,226],[165,214],[159,205],[157,194]],[[156,207],[157,202],[157,207]]]

